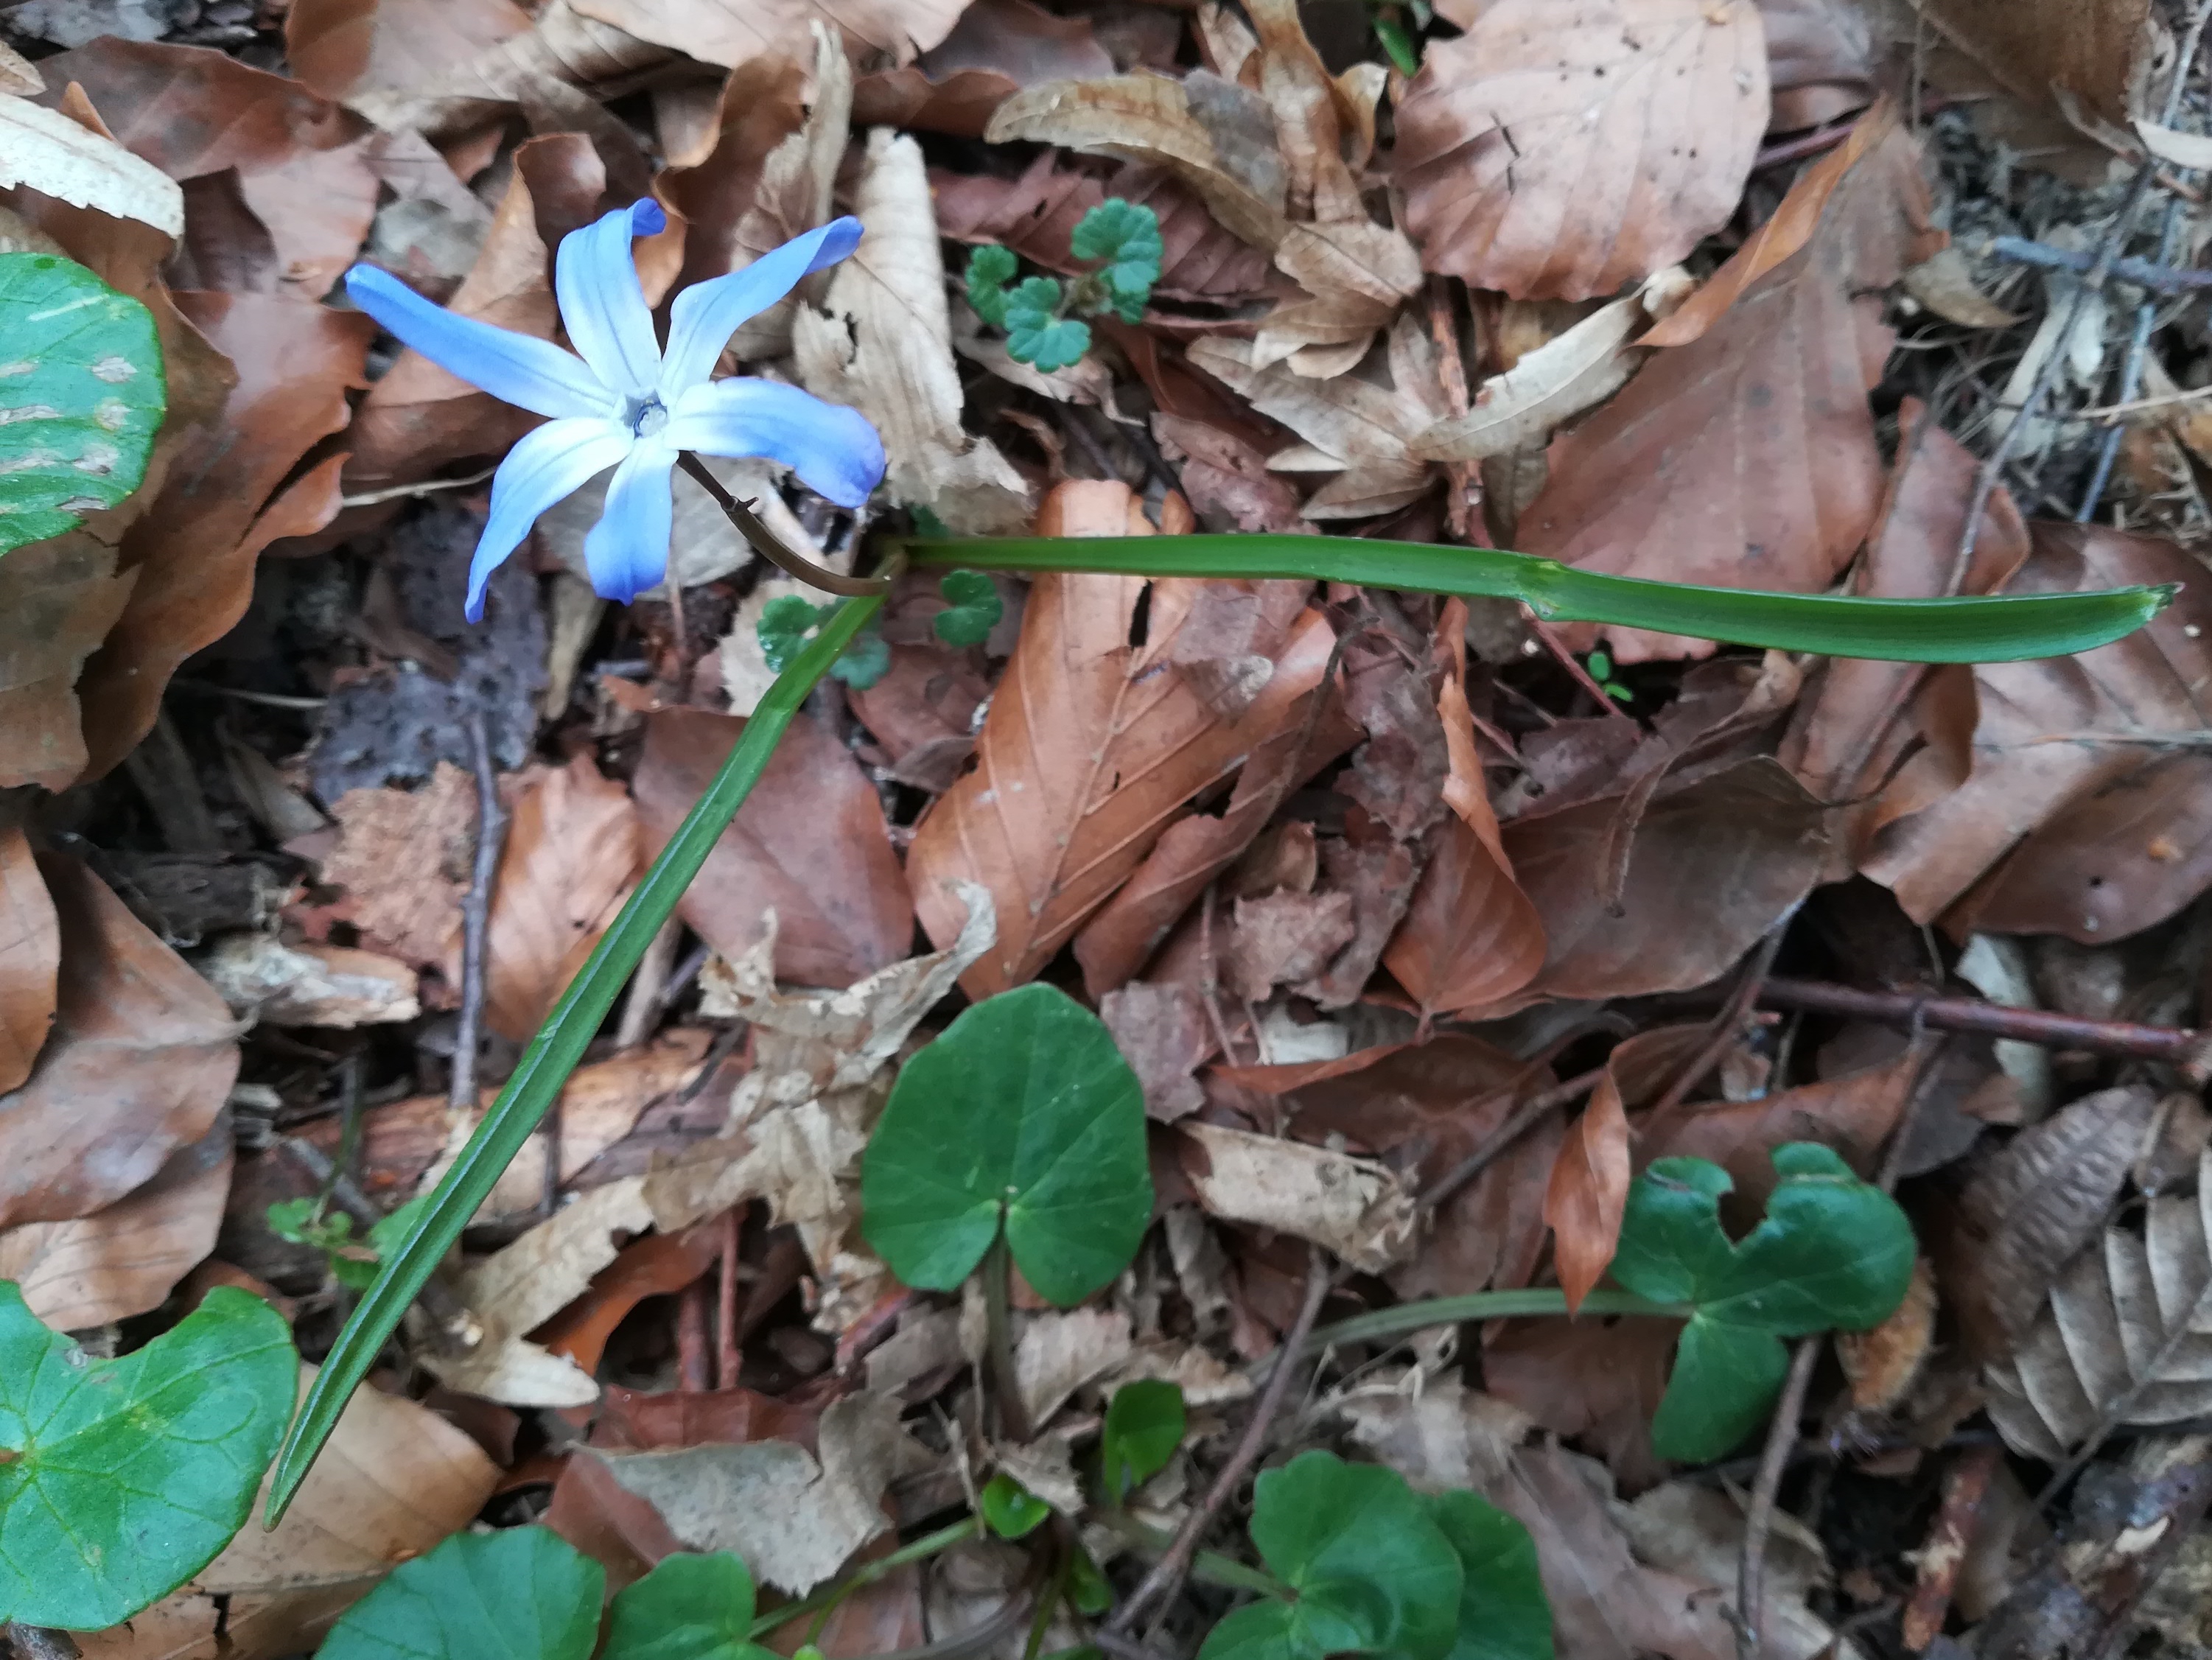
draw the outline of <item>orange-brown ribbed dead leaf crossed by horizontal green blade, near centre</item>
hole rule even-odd
[[[1071,480],[1046,498],[1037,531],[1128,533],[1133,520],[1144,525],[1126,485]],[[1217,710],[1206,677],[1177,660],[1183,622],[1203,615],[1203,591],[1201,582],[1117,575],[1042,575],[1031,587],[1020,644],[978,739],[980,766],[938,797],[907,854],[933,941],[962,925],[951,883],[980,883],[998,901],[998,947],[962,978],[971,996],[1035,976],[1194,795],[1241,768],[1294,710],[1303,717],[1329,660],[1321,613],[1303,606],[1294,584],[1263,587],[1248,649],[1237,653],[1256,660],[1263,684],[1241,708]],[[1130,618],[1144,595],[1148,635],[1133,646]],[[1245,839],[1256,832],[1252,823]],[[1124,958],[1126,974],[1148,950]],[[1115,983],[1093,981],[1099,992]]]

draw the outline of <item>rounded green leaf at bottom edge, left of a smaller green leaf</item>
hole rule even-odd
[[[453,1534],[354,1602],[316,1660],[591,1660],[604,1591],[549,1527]]]

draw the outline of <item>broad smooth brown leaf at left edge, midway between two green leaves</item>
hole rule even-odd
[[[0,1226],[115,1204],[215,1127],[239,1073],[215,989],[75,859],[38,868],[62,967],[46,1047],[0,1104]]]

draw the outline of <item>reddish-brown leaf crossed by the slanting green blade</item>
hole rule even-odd
[[[646,719],[630,788],[648,854],[675,834],[743,730],[734,715],[697,708]],[[914,901],[883,801],[836,733],[807,715],[776,744],[684,896],[681,916],[734,958],[759,943],[768,910],[776,912],[779,981],[852,985],[902,958],[914,941]]]

